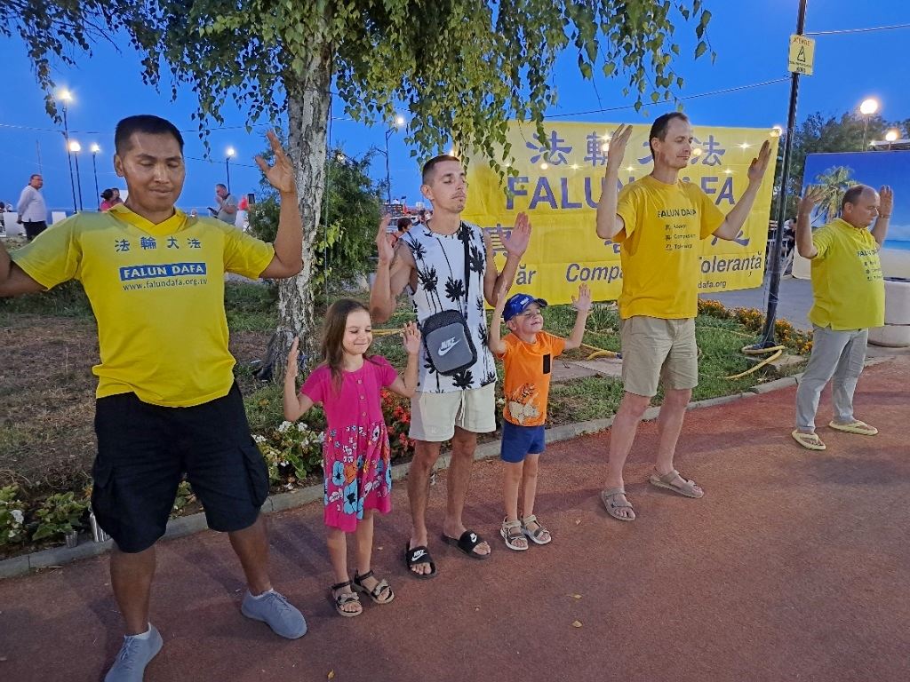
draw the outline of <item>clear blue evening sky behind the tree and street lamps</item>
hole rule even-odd
[[[706,0],[704,5],[713,13],[708,36],[717,59],[714,64],[706,56],[694,61],[691,58],[693,27],[678,26],[683,57],[676,64],[676,71],[686,80],[680,93],[683,97],[788,75],[787,43],[796,25],[797,0]],[[905,23],[906,16],[905,3],[901,0],[874,3],[810,0],[806,31],[896,25]],[[415,35],[419,35],[418,28],[415,27]],[[882,102],[880,113],[885,118],[910,118],[910,88],[906,87],[904,74],[910,29],[819,35],[816,39],[815,75],[801,79],[800,120],[815,111],[840,115],[868,96]],[[93,143],[102,148],[96,156],[98,186],[117,184],[111,163],[116,122],[126,115],[153,113],[166,116],[187,131],[187,186],[180,206],[188,209],[213,204],[214,184],[225,181],[224,154],[228,146],[238,153],[231,165],[232,189],[255,191],[259,174],[252,156],[265,145],[263,128],[256,128],[249,135],[243,112],[226,106],[226,122],[222,129],[212,130],[211,158],[206,160],[205,148],[195,132],[197,125],[190,119],[196,108],[192,92],[182,89],[177,102],[171,103],[169,84],[165,84],[165,94],[143,85],[137,55],[130,51],[126,41],[122,49],[118,54],[111,45],[98,45],[93,56],[79,57],[78,66],[60,67],[55,73],[57,84],[68,87],[76,97],[68,115],[71,137],[84,150]],[[71,210],[73,200],[63,138],[45,115],[43,94],[35,83],[23,43],[17,38],[0,43],[0,63],[6,65],[2,81],[5,96],[0,97],[0,149],[3,150],[0,200],[17,199],[28,176],[38,171],[40,154],[48,205]],[[651,107],[647,116],[636,114],[630,106],[632,101],[622,97],[622,80],[600,76],[593,84],[584,81],[577,73],[573,54],[561,58],[553,80],[559,88],[560,100],[551,114],[559,115],[562,120],[642,123],[666,110]],[[786,80],[722,95],[693,97],[683,104],[698,125],[770,127],[785,124],[788,95],[789,80]],[[614,107],[627,108],[587,113]],[[349,155],[359,156],[371,145],[384,144],[384,125],[344,120],[340,107],[336,108],[331,129],[333,145],[343,147]],[[403,140],[403,134],[392,135],[389,140],[392,195],[407,196],[412,203],[420,200],[419,168]],[[79,157],[79,169],[83,203],[86,208],[95,206],[92,159],[86,151]],[[385,160],[377,155],[373,176],[384,175]]]

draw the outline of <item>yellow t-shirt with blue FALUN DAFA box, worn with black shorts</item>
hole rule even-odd
[[[256,278],[274,248],[214,218],[177,210],[153,225],[124,205],[47,229],[10,256],[38,284],[77,279],[98,324],[96,396],[136,393],[187,407],[226,396],[226,272]]]

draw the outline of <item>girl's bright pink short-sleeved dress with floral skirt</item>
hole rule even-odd
[[[300,393],[326,412],[322,446],[326,526],[346,533],[357,529],[364,509],[391,510],[389,432],[379,391],[398,374],[382,356],[371,356],[355,372],[342,372],[340,390],[328,366],[317,367]]]

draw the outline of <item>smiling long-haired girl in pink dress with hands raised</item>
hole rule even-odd
[[[342,298],[326,313],[322,331],[320,366],[307,377],[297,393],[298,339],[290,346],[285,373],[285,418],[295,421],[310,407],[321,403],[328,426],[323,445],[325,481],[324,520],[329,557],[335,571],[331,597],[341,616],[359,616],[363,611],[358,592],[377,604],[388,604],[395,593],[386,580],[370,569],[373,550],[373,513],[391,510],[389,434],[382,418],[379,391],[388,386],[399,396],[410,397],[417,389],[417,356],[420,331],[410,322],[402,332],[408,367],[404,378],[389,361],[369,355],[373,342],[369,310],[358,301]],[[348,574],[348,540],[357,540],[357,571]],[[353,587],[353,588],[352,588]],[[356,591],[355,591],[356,590]]]

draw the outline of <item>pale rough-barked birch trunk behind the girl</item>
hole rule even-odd
[[[303,220],[303,269],[298,276],[278,282],[278,329],[268,344],[268,356],[258,371],[263,380],[284,376],[288,349],[294,336],[300,337],[300,354],[308,360],[318,352],[317,329],[313,322],[313,295],[310,277],[313,245],[322,215],[322,193],[326,183],[326,136],[331,95],[331,51],[329,46],[314,51],[303,80],[285,77],[288,94],[288,156],[297,175],[300,217]]]

